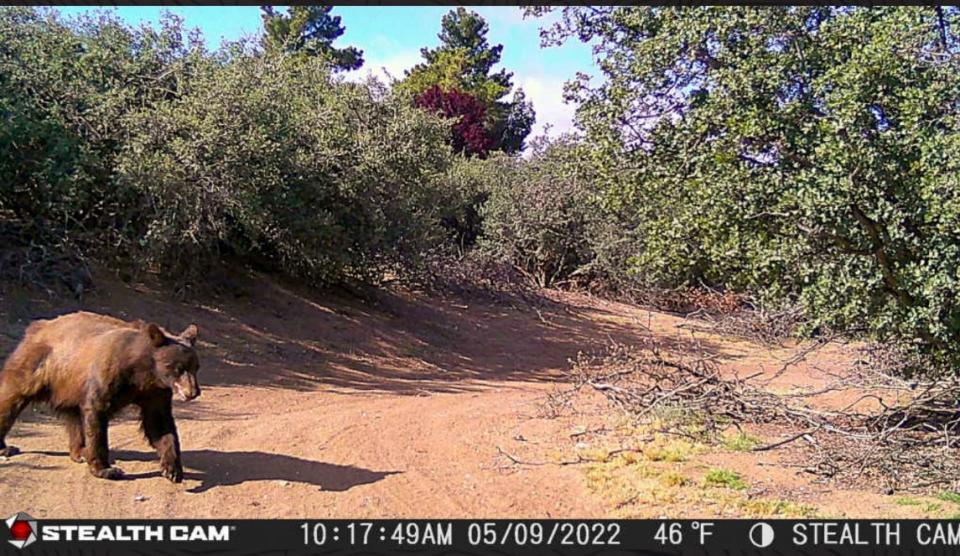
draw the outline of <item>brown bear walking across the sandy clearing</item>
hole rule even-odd
[[[171,400],[200,395],[197,333],[195,324],[173,335],[156,324],[84,311],[33,322],[0,371],[0,456],[18,452],[4,438],[23,408],[47,402],[66,422],[70,459],[86,460],[95,477],[119,479],[123,472],[108,459],[107,424],[134,404],[163,476],[179,483]]]

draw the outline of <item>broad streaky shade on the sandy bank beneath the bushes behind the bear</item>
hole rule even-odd
[[[484,381],[555,381],[578,352],[644,335],[642,323],[572,304],[517,308],[387,289],[364,301],[260,275],[236,277],[233,294],[176,301],[160,288],[110,276],[96,281],[84,309],[176,332],[198,323],[200,380],[218,386],[472,391]],[[78,308],[76,302],[35,305],[29,318],[8,325],[6,337],[19,337],[30,318]],[[0,336],[0,354],[15,343],[6,337]],[[705,342],[697,349],[710,353],[713,346]]]

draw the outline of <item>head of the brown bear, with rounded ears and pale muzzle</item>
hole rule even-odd
[[[200,383],[197,382],[197,369],[200,360],[194,346],[197,343],[199,329],[191,324],[178,336],[167,334],[156,324],[146,324],[141,328],[154,347],[153,374],[174,395],[189,401],[200,395]]]

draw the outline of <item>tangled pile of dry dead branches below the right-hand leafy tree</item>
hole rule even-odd
[[[600,392],[638,421],[673,434],[689,435],[691,418],[702,438],[714,440],[731,426],[771,425],[767,430],[784,434],[754,450],[790,448],[784,463],[825,480],[883,490],[956,488],[960,379],[919,381],[884,371],[858,365],[816,390],[777,394],[766,388],[770,376],[735,376],[696,346],[667,349],[650,340],[581,356],[569,393]]]

